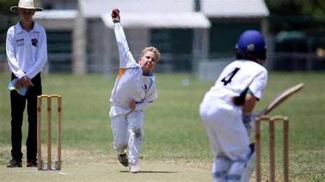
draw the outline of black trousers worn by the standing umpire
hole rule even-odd
[[[11,79],[16,76],[12,73]],[[15,159],[22,159],[21,140],[23,125],[23,112],[25,110],[27,101],[27,115],[28,115],[28,135],[26,141],[27,147],[27,161],[37,161],[37,96],[42,94],[42,84],[40,73],[32,79],[34,86],[30,86],[25,94],[22,96],[15,90],[10,91],[11,103],[11,155]]]

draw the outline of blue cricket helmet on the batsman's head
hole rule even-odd
[[[236,44],[236,51],[242,56],[254,55],[260,60],[265,60],[266,44],[263,35],[252,29],[243,31]]]

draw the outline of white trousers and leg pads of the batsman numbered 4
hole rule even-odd
[[[243,125],[241,107],[222,99],[200,105],[200,117],[215,156],[213,181],[240,181],[250,155],[250,138]]]

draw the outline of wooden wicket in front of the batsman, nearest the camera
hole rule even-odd
[[[283,179],[289,181],[289,119],[287,116],[255,118],[256,181],[261,181],[261,121],[269,121],[269,181],[275,181],[274,121],[283,121]]]

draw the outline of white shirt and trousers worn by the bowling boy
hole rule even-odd
[[[110,118],[114,137],[113,146],[118,155],[125,154],[129,147],[129,162],[139,164],[143,140],[143,109],[156,98],[157,90],[152,73],[143,75],[140,64],[134,60],[121,23],[114,25],[119,49],[120,69],[110,97]],[[136,108],[129,103],[136,101]]]

